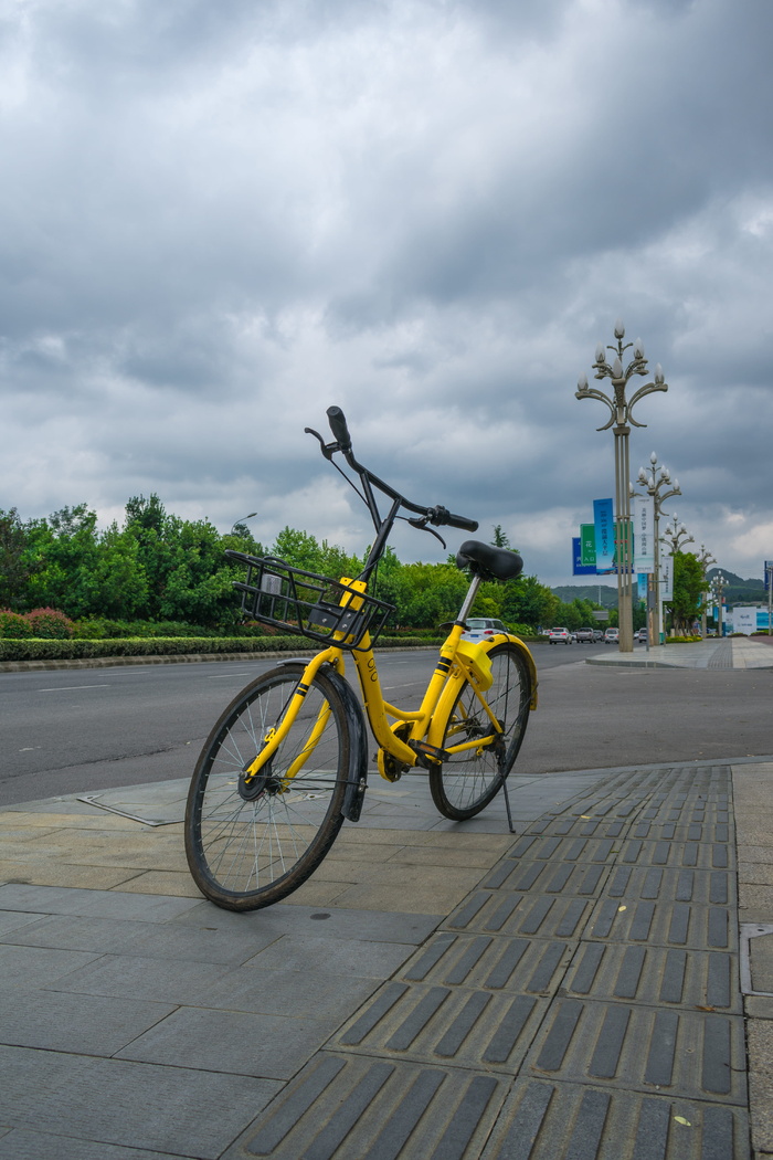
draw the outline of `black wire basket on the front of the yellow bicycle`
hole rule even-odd
[[[366,632],[375,644],[387,617],[395,611],[394,604],[270,556],[248,556],[232,549],[226,556],[247,565],[247,579],[233,582],[241,592],[246,616],[321,644],[359,650]],[[347,601],[341,604],[344,596]]]

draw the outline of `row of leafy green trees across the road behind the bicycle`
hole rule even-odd
[[[493,543],[510,548],[499,525],[493,531]],[[155,493],[132,496],[122,524],[102,530],[86,503],[28,521],[15,508],[0,509],[0,609],[48,608],[76,622],[178,622],[231,631],[240,619],[233,580],[242,570],[224,557],[226,549],[275,556],[335,578],[356,577],[364,565],[364,557],[296,528],[284,528],[271,544],[261,544],[245,524],[223,535],[209,520],[168,513]],[[466,588],[452,556],[439,564],[403,564],[388,549],[374,590],[396,606],[394,628],[433,630],[455,617]],[[520,575],[483,583],[474,615],[534,632],[590,624],[597,607],[586,600],[563,603],[535,577]]]

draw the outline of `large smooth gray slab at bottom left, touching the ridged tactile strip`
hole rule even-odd
[[[282,1085],[0,1046],[0,1123],[216,1160]],[[44,1094],[44,1096],[43,1096]]]

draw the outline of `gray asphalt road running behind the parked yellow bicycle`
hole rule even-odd
[[[517,771],[773,753],[773,672],[623,669],[598,646],[534,647],[540,703]],[[417,704],[431,652],[379,659],[387,698]],[[0,806],[188,777],[211,725],[274,660],[0,674]]]

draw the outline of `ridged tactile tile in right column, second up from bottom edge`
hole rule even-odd
[[[745,1051],[741,1016],[560,999],[525,1070],[745,1107]]]

